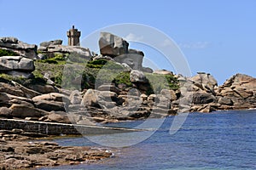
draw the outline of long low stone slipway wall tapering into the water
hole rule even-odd
[[[53,122],[32,122],[14,119],[0,119],[0,129],[12,130],[14,128],[23,129],[24,131],[30,133],[44,133],[49,135],[77,135],[81,133],[84,135],[93,135],[108,133],[129,133],[138,131],[137,129],[119,127],[97,127]]]

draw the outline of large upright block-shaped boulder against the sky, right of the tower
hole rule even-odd
[[[102,55],[116,57],[121,54],[128,54],[129,43],[111,33],[101,32],[99,46]]]

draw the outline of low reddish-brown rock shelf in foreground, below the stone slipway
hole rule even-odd
[[[22,129],[0,130],[0,169],[20,169],[75,165],[100,161],[113,156],[112,151],[82,146],[60,146],[40,133]]]

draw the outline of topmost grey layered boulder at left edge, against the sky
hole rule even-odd
[[[38,47],[34,44],[27,44],[26,42],[21,42],[15,37],[0,37],[0,48],[14,51],[20,56],[37,59],[37,49]]]

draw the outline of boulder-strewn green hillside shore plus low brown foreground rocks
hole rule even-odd
[[[61,43],[43,42],[38,48],[14,37],[0,38],[0,118],[96,125],[256,108],[254,77],[236,74],[218,86],[203,72],[183,77],[152,71],[143,67],[142,51],[106,32],[99,40],[101,54]],[[111,156],[87,147],[29,144],[24,139],[33,139],[30,134],[17,129],[0,134],[0,169],[9,169],[10,163],[36,167]],[[40,156],[44,159],[37,161]]]

